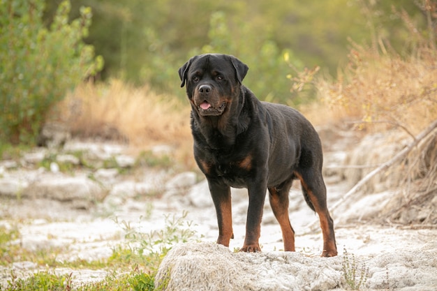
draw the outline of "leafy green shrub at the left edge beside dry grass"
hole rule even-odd
[[[32,143],[68,89],[103,67],[85,45],[91,9],[68,22],[71,4],[59,5],[47,29],[44,0],[0,0],[0,140]]]

